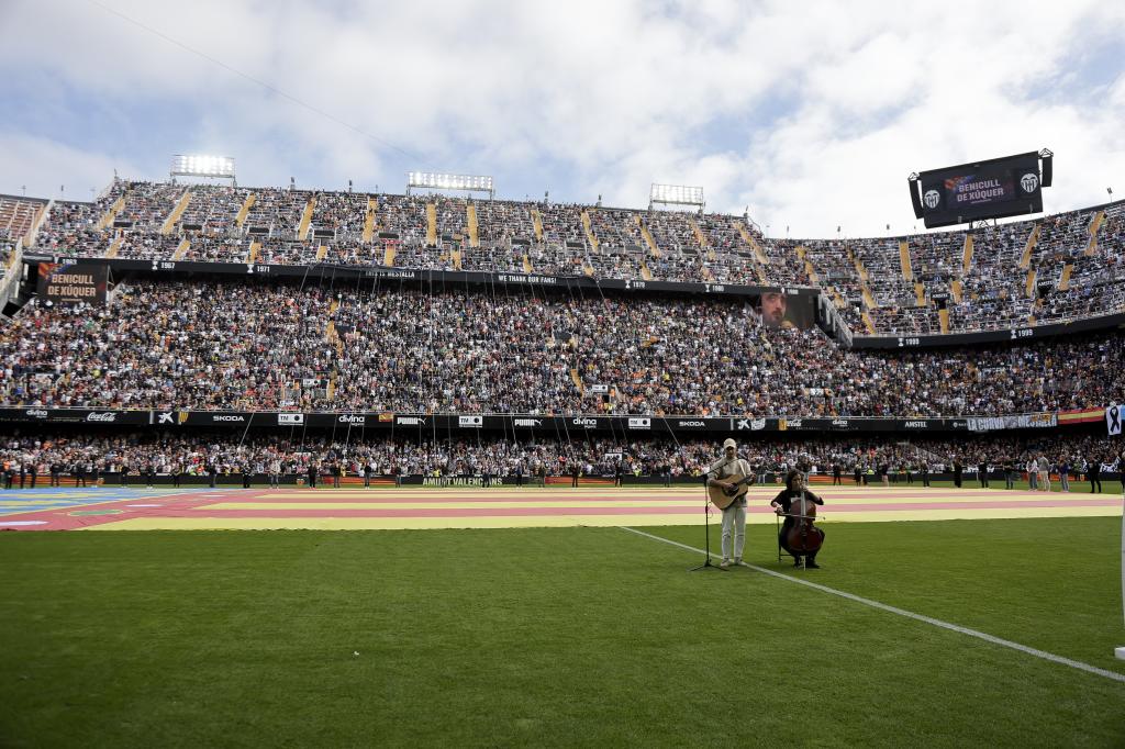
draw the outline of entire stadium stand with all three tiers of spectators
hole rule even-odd
[[[1125,202],[904,237],[782,240],[747,217],[601,206],[115,181],[92,202],[4,208],[4,260],[32,255],[321,263],[315,278],[125,273],[104,307],[32,298],[0,327],[0,407],[963,418],[1125,401],[1116,330],[999,345],[848,349],[817,327],[763,324],[750,300],[598,287],[338,283],[325,268],[436,269],[819,289],[856,334],[1006,330],[1125,312]],[[50,206],[50,208],[48,208]],[[8,210],[8,213],[3,213]],[[35,211],[38,211],[37,214]],[[40,223],[42,222],[42,223]],[[29,260],[28,262],[34,262]],[[195,267],[198,268],[198,267]],[[592,289],[596,289],[592,291]],[[26,298],[26,297],[25,297]],[[20,301],[22,304],[22,300]],[[719,342],[717,344],[717,342]],[[36,412],[39,413],[39,412]],[[153,412],[155,418],[155,410]],[[25,414],[26,415],[26,414]],[[362,422],[361,422],[362,423]],[[731,422],[734,423],[734,422]],[[1060,422],[1061,423],[1061,422]],[[6,428],[0,458],[119,472],[698,476],[713,441],[666,436],[345,430],[127,433]],[[964,424],[962,424],[962,428]],[[1010,428],[1010,427],[1004,427]],[[801,464],[904,476],[1046,451],[1078,473],[1115,458],[1091,427],[746,443],[763,471]]]

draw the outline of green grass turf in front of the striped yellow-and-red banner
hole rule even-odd
[[[1119,524],[747,557],[1125,674]],[[0,746],[1125,745],[1120,682],[699,561],[612,527],[0,534]]]

